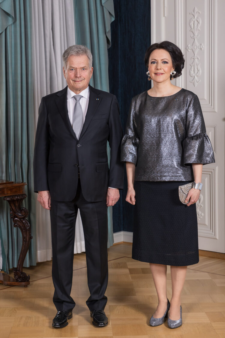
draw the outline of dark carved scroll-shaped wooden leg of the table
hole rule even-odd
[[[22,232],[23,239],[20,257],[18,260],[17,268],[13,268],[13,272],[15,282],[17,282],[14,285],[23,285],[23,286],[27,286],[28,284],[30,284],[29,282],[30,276],[27,275],[25,272],[23,272],[23,263],[27,255],[27,251],[29,249],[30,240],[32,239],[30,224],[26,219],[28,216],[28,210],[26,208],[21,208],[21,204],[24,198],[26,197],[27,197],[26,194],[4,197],[4,200],[9,202],[9,206],[11,209],[10,214],[14,223],[13,225],[15,227],[19,227]]]

